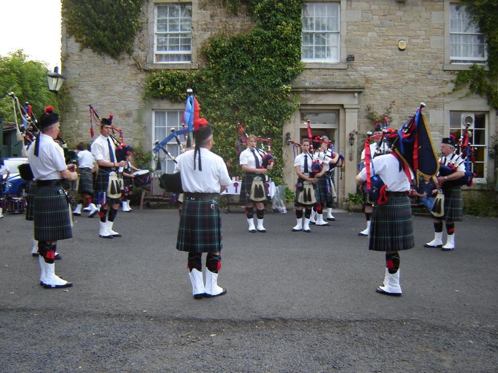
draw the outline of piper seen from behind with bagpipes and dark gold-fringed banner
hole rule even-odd
[[[399,284],[399,251],[414,246],[411,203],[408,197],[413,172],[424,176],[436,175],[439,164],[430,137],[423,102],[399,131],[382,131],[389,153],[371,159],[368,137],[365,141],[365,168],[356,176],[357,185],[366,182],[373,200],[369,249],[385,252],[384,281],[375,291],[386,295],[401,295]]]

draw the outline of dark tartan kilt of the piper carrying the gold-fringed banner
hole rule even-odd
[[[401,251],[415,246],[410,198],[387,195],[387,202],[373,205],[369,250]]]

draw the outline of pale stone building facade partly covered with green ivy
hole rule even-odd
[[[190,60],[154,62],[157,6],[185,3],[191,4]],[[456,73],[468,69],[472,62],[452,60],[450,34],[454,1],[317,0],[307,3],[317,4],[317,9],[324,3],[334,4],[338,10],[334,36],[338,45],[333,62],[303,60],[306,68],[292,84],[293,92],[300,94],[300,108],[284,126],[282,138],[299,141],[305,136],[304,122],[309,119],[317,134],[326,134],[334,141],[336,151],[347,160],[345,173],[342,177],[339,173],[336,175],[340,200],[356,190],[354,177],[360,147],[366,132],[373,129],[367,117],[368,106],[379,113],[390,108],[391,125],[398,127],[414,114],[421,101],[425,102],[424,112],[438,150],[441,138],[447,137],[450,130],[456,133],[461,118],[470,116],[479,143],[476,164],[479,172],[474,188],[485,188],[487,182],[496,179],[494,160],[488,157],[488,147],[497,129],[495,110],[486,98],[451,92],[451,81]],[[63,19],[63,74],[67,77],[68,92],[63,130],[67,141],[89,140],[88,105],[93,104],[101,116],[111,112],[115,115],[116,125],[124,130],[126,141],[132,146],[152,149],[154,140],[162,140],[156,137],[167,130],[157,126],[161,113],[181,112],[184,105],[161,99],[143,100],[147,77],[143,68],[202,68],[204,61],[200,51],[210,37],[220,32],[246,32],[253,26],[243,12],[235,16],[221,1],[148,0],[144,2],[141,18],[143,28],[135,37],[134,54],[121,61],[97,55],[90,49],[80,50],[78,43],[67,35]],[[166,127],[171,120],[174,118],[169,116],[163,120]],[[353,145],[349,142],[350,135],[355,139]],[[295,174],[291,146],[284,145],[283,153],[285,183],[292,188]]]

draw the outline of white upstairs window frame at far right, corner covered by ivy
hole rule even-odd
[[[459,10],[457,10],[460,7]],[[450,2],[448,6],[449,11],[449,21],[448,21],[448,44],[449,44],[449,62],[454,65],[470,65],[470,64],[486,64],[488,61],[488,52],[486,48],[486,40],[482,32],[479,32],[477,25],[473,24],[469,17],[467,17],[467,12],[465,11],[465,6],[458,2]],[[461,17],[455,18],[455,13],[462,15]],[[456,22],[466,23],[465,30],[452,29],[452,25]],[[468,38],[468,37],[471,38]],[[468,57],[463,55],[452,55],[452,39],[460,37],[460,43],[455,43],[459,45],[460,49],[463,49],[464,40],[468,38],[471,45],[473,44],[472,37],[482,36],[483,38],[483,56],[482,57]]]

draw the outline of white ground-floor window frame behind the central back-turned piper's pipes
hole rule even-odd
[[[165,113],[165,116],[166,116],[165,125],[157,125],[157,123],[156,123],[156,114],[157,113]],[[175,115],[175,114],[176,114],[177,119],[173,118],[168,123],[168,116]],[[156,140],[158,140],[158,141],[164,140],[168,135],[171,134],[171,128],[175,128],[175,130],[182,129],[182,125],[180,123],[182,116],[183,116],[183,110],[174,110],[174,109],[172,109],[172,110],[169,110],[169,109],[168,110],[166,110],[166,109],[152,110],[152,141],[151,141],[151,144],[154,144]],[[172,125],[173,121],[175,122],[174,125]],[[155,138],[155,137],[157,137],[156,136],[156,128],[164,128],[164,134],[163,134],[164,137],[163,138],[161,138],[161,139]],[[179,137],[180,137],[180,141],[183,141],[183,135],[180,135]],[[151,150],[154,147],[155,147],[155,145],[152,145]],[[165,149],[169,153],[171,153],[171,155],[173,157],[178,157],[178,155],[181,154],[180,147],[178,146],[176,139],[174,139],[174,138],[166,144]],[[161,171],[164,173],[172,174],[173,169],[175,168],[174,161],[170,157],[167,157],[166,154],[162,150],[159,150],[159,152],[156,154],[156,156],[159,157],[159,159],[160,159]],[[152,169],[155,169],[156,166],[157,166],[157,158],[155,160],[152,160],[152,162],[151,162]]]

